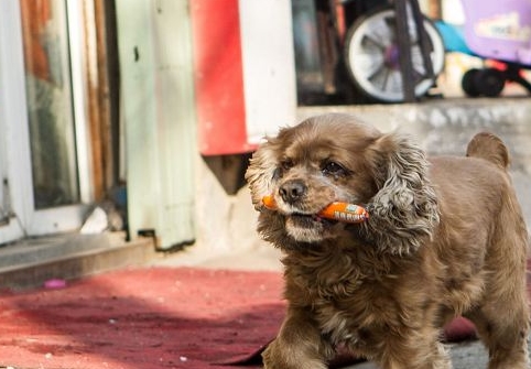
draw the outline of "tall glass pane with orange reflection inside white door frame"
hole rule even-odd
[[[20,0],[35,208],[79,203],[65,0]]]

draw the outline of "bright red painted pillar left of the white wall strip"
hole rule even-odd
[[[199,151],[249,152],[238,0],[191,0]]]

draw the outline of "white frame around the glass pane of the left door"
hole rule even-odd
[[[0,243],[24,236],[72,231],[82,226],[93,200],[90,145],[83,66],[83,0],[68,0],[68,34],[76,131],[80,204],[35,210],[25,94],[21,12],[18,0],[0,1],[0,174],[2,204],[9,204],[9,223],[0,226]],[[6,185],[7,184],[7,185]]]

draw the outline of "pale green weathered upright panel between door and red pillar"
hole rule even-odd
[[[196,148],[187,0],[117,0],[129,229],[194,240]]]

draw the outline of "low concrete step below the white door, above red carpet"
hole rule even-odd
[[[79,279],[158,257],[151,238],[126,242],[120,234],[25,239],[0,248],[0,289],[37,287],[52,279]]]

